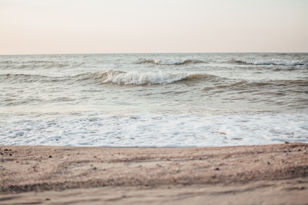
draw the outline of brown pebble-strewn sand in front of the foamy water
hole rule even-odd
[[[0,204],[308,204],[308,144],[0,148]]]

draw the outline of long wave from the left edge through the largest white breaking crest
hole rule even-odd
[[[123,72],[123,71],[99,71],[96,73],[82,73],[75,76],[66,77],[50,77],[43,75],[30,75],[30,74],[1,74],[0,82],[15,82],[15,83],[66,83],[74,84],[84,82],[86,84],[101,84],[111,83],[118,85],[155,85],[155,84],[168,84],[176,81],[189,81],[198,80],[203,78],[217,77],[214,75],[201,74],[201,73],[163,73],[163,72],[145,72],[139,73],[137,71]]]

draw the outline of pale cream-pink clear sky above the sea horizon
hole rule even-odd
[[[308,52],[308,0],[0,0],[0,55]]]

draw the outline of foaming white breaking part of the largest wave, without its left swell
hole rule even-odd
[[[216,77],[213,75],[200,74],[200,73],[186,73],[186,74],[171,74],[171,73],[153,73],[145,72],[139,73],[122,72],[122,71],[100,71],[103,83],[114,83],[118,85],[133,84],[133,85],[153,85],[153,84],[168,84],[176,81],[191,80],[196,78]]]

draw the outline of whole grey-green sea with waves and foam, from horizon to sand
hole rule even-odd
[[[0,56],[0,144],[308,142],[308,53]]]

